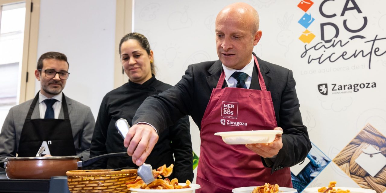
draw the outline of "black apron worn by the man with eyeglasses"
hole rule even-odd
[[[63,94],[64,119],[31,119],[38,98],[39,92],[32,101],[25,118],[17,154],[19,157],[34,157],[41,146],[48,146],[52,156],[75,156],[76,151],[66,97]]]

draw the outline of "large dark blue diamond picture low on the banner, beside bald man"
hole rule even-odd
[[[308,186],[320,172],[326,168],[326,166],[331,162],[331,159],[328,158],[320,149],[318,149],[315,144],[312,144],[312,148],[307,155],[307,158],[310,160],[308,164],[297,174],[291,172],[291,179],[293,188],[298,190],[299,193]],[[301,163],[300,163],[301,165]]]

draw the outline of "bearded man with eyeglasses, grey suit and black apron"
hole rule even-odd
[[[69,76],[66,55],[43,54],[35,70],[41,89],[36,97],[12,107],[0,134],[0,159],[33,157],[45,146],[46,156],[90,156],[95,119],[90,107],[62,92]]]

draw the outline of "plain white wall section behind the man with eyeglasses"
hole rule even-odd
[[[66,54],[70,75],[63,93],[88,105],[95,118],[113,89],[114,36],[114,0],[41,0],[37,58],[48,51]]]

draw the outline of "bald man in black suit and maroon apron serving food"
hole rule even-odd
[[[262,31],[251,5],[223,8],[215,30],[219,60],[189,65],[175,86],[142,103],[124,140],[127,153],[140,166],[157,133],[191,115],[201,139],[197,193],[230,193],[265,183],[292,187],[289,167],[303,161],[311,149],[293,73],[252,52]],[[214,135],[251,130],[277,134],[273,142],[246,145],[225,144]]]

